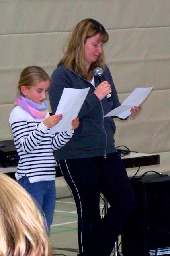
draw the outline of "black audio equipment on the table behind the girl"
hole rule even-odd
[[[14,140],[0,141],[0,165],[2,167],[16,166],[19,156],[17,154]]]

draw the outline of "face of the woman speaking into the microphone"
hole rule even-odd
[[[86,39],[84,44],[85,60],[87,70],[92,62],[95,62],[103,51],[103,42],[99,40],[100,33]]]

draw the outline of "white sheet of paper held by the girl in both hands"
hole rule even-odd
[[[50,128],[50,133],[70,131],[71,121],[78,116],[90,87],[85,89],[64,88],[55,114],[62,114],[62,120]]]

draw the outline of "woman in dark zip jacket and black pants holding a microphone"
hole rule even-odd
[[[104,62],[103,44],[109,36],[93,19],[79,22],[72,32],[63,59],[52,74],[49,90],[55,113],[64,87],[87,88],[88,96],[78,114],[80,125],[74,138],[56,152],[63,176],[72,190],[78,213],[78,241],[82,256],[109,256],[125,221],[135,207],[133,191],[123,162],[114,146],[115,124],[103,118],[120,106],[109,68]],[[100,67],[106,81],[94,77]],[[112,100],[107,100],[111,93]],[[135,116],[141,106],[131,109]],[[69,109],[69,107],[68,107]],[[101,220],[100,191],[110,208]]]

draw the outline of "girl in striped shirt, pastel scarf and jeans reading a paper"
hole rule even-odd
[[[47,220],[47,232],[55,208],[55,158],[53,151],[63,147],[78,127],[78,118],[72,120],[72,130],[49,134],[62,115],[50,116],[47,111],[46,93],[50,78],[40,67],[25,68],[20,76],[20,95],[10,114],[10,126],[19,155],[18,182],[35,199]]]

